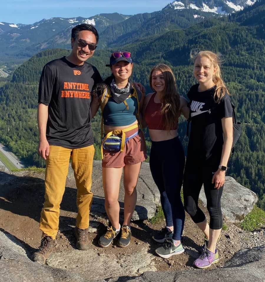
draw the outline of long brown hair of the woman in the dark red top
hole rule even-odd
[[[180,99],[179,93],[176,85],[175,76],[166,64],[159,64],[151,70],[149,83],[152,88],[152,73],[153,71],[158,70],[162,72],[165,80],[164,95],[160,99],[162,103],[161,115],[162,122],[164,124],[165,130],[172,130],[176,128],[176,122],[179,117],[179,107]],[[154,90],[154,89],[153,89]]]

